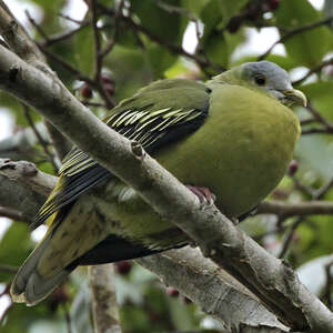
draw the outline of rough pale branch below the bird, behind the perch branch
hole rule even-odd
[[[268,325],[286,330],[235,279],[204,259],[199,249],[184,248],[137,260],[167,285],[176,287],[195,304],[222,320],[228,330]],[[239,331],[236,331],[239,332]]]

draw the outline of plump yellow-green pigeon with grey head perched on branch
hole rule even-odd
[[[285,70],[246,62],[206,82],[164,79],[121,101],[102,121],[139,142],[167,170],[230,218],[279,184],[301,133],[291,107],[306,97]],[[14,302],[34,305],[78,265],[131,260],[189,244],[140,194],[73,147],[33,226],[48,231],[19,269]]]

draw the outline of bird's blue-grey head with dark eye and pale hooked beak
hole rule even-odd
[[[273,62],[245,62],[239,73],[250,87],[262,89],[287,107],[294,103],[306,105],[303,92],[293,89],[287,72]]]

